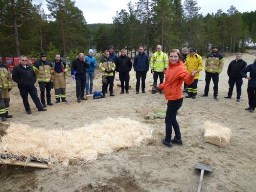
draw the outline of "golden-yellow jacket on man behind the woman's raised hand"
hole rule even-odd
[[[185,67],[188,73],[190,73],[192,70],[196,68],[196,70],[198,70],[198,73],[195,75],[195,79],[199,79],[199,72],[203,69],[202,57],[198,54],[195,54],[193,56],[187,55]]]

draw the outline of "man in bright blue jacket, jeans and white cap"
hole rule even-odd
[[[94,69],[98,65],[95,57],[93,57],[93,49],[89,49],[88,55],[85,56],[85,60],[90,64],[90,68],[86,69],[86,84],[85,84],[85,94],[93,94],[93,79],[94,79]],[[90,89],[89,89],[89,79],[90,79]]]

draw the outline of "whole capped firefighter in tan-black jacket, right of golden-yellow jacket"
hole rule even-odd
[[[218,99],[218,83],[219,74],[221,73],[224,66],[224,58],[221,53],[218,52],[218,46],[212,46],[212,52],[206,58],[205,61],[205,93],[201,95],[202,97],[207,97],[209,93],[210,80],[213,81],[213,98]]]

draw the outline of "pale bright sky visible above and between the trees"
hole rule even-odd
[[[83,11],[87,23],[112,23],[112,17],[116,11],[127,9],[127,3],[133,4],[138,0],[76,0],[75,5]],[[48,13],[45,0],[32,0],[34,4],[43,4],[43,8]],[[201,7],[200,13],[216,13],[218,9],[227,12],[231,5],[234,5],[239,12],[255,11],[256,0],[197,0]]]

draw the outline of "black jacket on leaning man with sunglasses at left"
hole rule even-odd
[[[14,67],[12,71],[12,79],[18,84],[18,88],[31,88],[36,83],[36,74],[33,68],[22,64]]]

